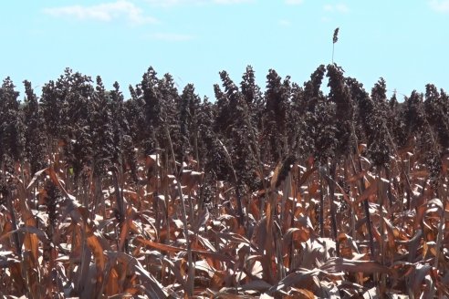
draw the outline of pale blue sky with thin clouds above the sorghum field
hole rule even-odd
[[[129,95],[152,66],[213,97],[220,70],[240,82],[252,65],[262,88],[269,68],[302,84],[330,63],[336,27],[335,61],[367,89],[449,91],[449,0],[3,1],[0,77],[40,95],[71,67]]]

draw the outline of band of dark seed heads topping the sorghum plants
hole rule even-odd
[[[321,88],[325,77],[329,94]],[[171,170],[203,170],[204,181],[227,180],[245,193],[261,188],[266,165],[312,159],[328,167],[330,160],[358,153],[361,143],[367,147],[358,154],[386,169],[394,150],[415,144],[430,179],[440,175],[449,148],[449,97],[433,85],[401,102],[395,93],[387,98],[383,78],[369,94],[336,64],[319,66],[303,85],[270,69],[265,91],[250,66],[238,84],[226,71],[219,78],[210,101],[193,84],[180,92],[170,74],[158,76],[150,67],[125,100],[118,83],[109,90],[101,77],[93,81],[67,68],[40,97],[24,81],[22,103],[6,77],[0,88],[2,181],[7,173],[29,166],[33,175],[52,162],[67,166],[68,182],[77,186],[89,176],[101,185],[114,166],[120,177],[138,183],[139,156],[160,153]],[[211,196],[204,190],[204,201]]]

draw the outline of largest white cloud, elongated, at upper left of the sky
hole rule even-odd
[[[127,0],[103,3],[99,5],[71,5],[45,8],[44,13],[57,17],[69,16],[79,20],[96,20],[109,22],[113,19],[126,18],[132,24],[156,23],[151,16],[143,15],[140,7]]]

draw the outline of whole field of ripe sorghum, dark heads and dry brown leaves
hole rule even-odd
[[[214,99],[151,67],[127,100],[5,78],[1,297],[449,296],[444,90],[219,75]]]

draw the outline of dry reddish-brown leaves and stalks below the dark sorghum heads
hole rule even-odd
[[[337,184],[338,238],[330,229],[329,180],[320,180],[318,169],[310,165],[279,164],[268,178],[271,186],[245,194],[245,223],[240,224],[233,186],[217,185],[216,200],[206,207],[198,197],[202,173],[183,170],[168,175],[148,159],[140,161],[141,173],[151,167],[153,173],[162,170],[167,175],[141,177],[147,181],[141,186],[129,184],[124,174],[117,180],[122,184],[119,193],[110,172],[102,186],[105,201],[97,202],[99,212],[92,213],[93,207],[81,205],[72,195],[63,164],[55,162],[33,178],[24,177],[11,192],[16,229],[10,211],[0,211],[0,294],[30,298],[448,295],[447,179],[443,175],[439,190],[433,190],[426,183],[428,171],[416,160],[409,162],[414,164],[405,173],[401,160],[393,160],[389,179],[383,172],[372,173],[370,167],[359,172],[337,169],[337,178],[349,186]],[[404,175],[409,186],[405,190],[412,198],[410,210],[398,189]],[[48,219],[48,200],[43,200],[47,181],[63,197],[57,204],[56,222]],[[323,237],[318,237],[316,212],[320,192],[325,198]],[[34,196],[37,201],[30,201]],[[118,218],[115,207],[120,196],[124,211]],[[369,202],[374,253],[363,201]]]

